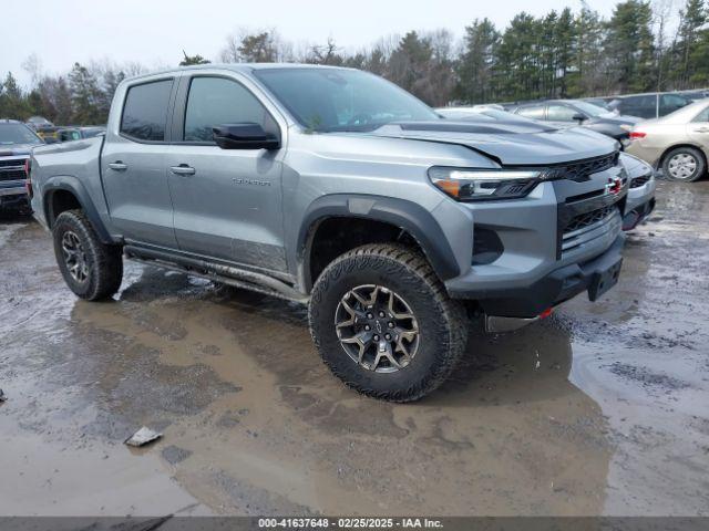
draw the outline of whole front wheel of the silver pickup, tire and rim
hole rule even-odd
[[[349,251],[322,272],[310,333],[332,373],[358,392],[417,400],[440,386],[465,351],[466,316],[428,261],[402,246]]]

